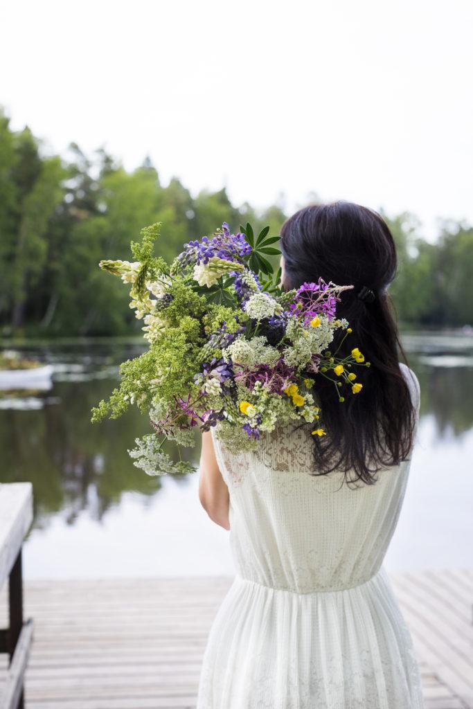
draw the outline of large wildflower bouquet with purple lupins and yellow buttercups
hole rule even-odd
[[[192,446],[196,428],[216,435],[230,451],[257,447],[262,433],[300,421],[323,436],[316,378],[332,379],[340,402],[357,394],[355,365],[369,367],[355,347],[338,357],[328,347],[349,323],[336,317],[340,293],[352,286],[304,283],[286,291],[267,256],[279,255],[269,227],[250,224],[230,233],[227,223],[211,238],[184,244],[171,264],[153,255],[161,223],[132,242],[133,262],[100,267],[131,285],[130,308],[144,322],[148,349],[121,364],[121,383],[93,410],[93,421],[117,418],[136,405],[153,432],[128,451],[151,475],[194,470],[172,461],[166,440]],[[179,453],[180,457],[180,453]]]

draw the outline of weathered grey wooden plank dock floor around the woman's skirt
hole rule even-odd
[[[425,709],[473,709],[473,571],[391,579],[416,644]],[[208,629],[230,581],[26,583],[26,617],[35,619],[26,708],[193,709]],[[2,623],[4,615],[3,595]]]

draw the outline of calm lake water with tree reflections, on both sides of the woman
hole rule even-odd
[[[473,566],[473,336],[406,335],[421,381],[421,426],[391,568]],[[228,534],[197,495],[197,474],[148,477],[127,448],[138,411],[91,425],[133,342],[23,348],[54,366],[52,387],[0,398],[0,481],[31,481],[28,578],[232,574]],[[194,459],[199,450],[189,450]]]

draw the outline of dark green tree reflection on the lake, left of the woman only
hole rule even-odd
[[[139,352],[113,343],[38,347],[35,357],[55,367],[52,390],[2,392],[0,481],[33,483],[35,527],[58,513],[72,524],[82,510],[101,520],[126,491],[151,496],[160,489],[161,479],[135,468],[126,452],[149,431],[138,410],[90,423],[91,407],[116,386],[118,362]]]

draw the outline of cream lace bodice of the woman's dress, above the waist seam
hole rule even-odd
[[[418,416],[418,381],[401,364]],[[382,565],[406,490],[410,460],[374,485],[342,471],[314,475],[310,432],[285,426],[257,450],[231,454],[213,435],[230,491],[230,545],[240,576],[296,593],[336,591],[371,579]]]

